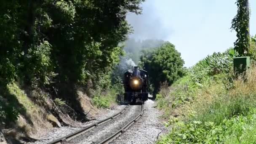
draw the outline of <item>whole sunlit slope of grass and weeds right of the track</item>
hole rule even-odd
[[[229,75],[222,73],[193,85],[189,85],[189,77],[184,77],[172,88],[162,89],[157,97],[158,108],[168,109],[166,125],[171,131],[157,144],[256,143],[255,79],[256,68],[252,67],[246,82],[230,83]],[[183,97],[191,99],[183,101]],[[183,116],[173,117],[177,113]]]

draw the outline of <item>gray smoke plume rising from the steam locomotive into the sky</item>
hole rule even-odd
[[[129,35],[128,40],[125,41],[126,55],[120,59],[120,64],[115,68],[116,76],[123,77],[125,71],[137,66],[141,51],[159,47],[172,31],[160,20],[161,15],[156,13],[155,2],[156,0],[146,0],[141,5],[143,8],[141,15],[128,13],[126,16],[133,29],[133,34]]]

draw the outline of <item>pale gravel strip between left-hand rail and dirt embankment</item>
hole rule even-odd
[[[126,107],[126,105],[116,106],[113,109],[104,109],[101,112],[99,112],[98,115],[96,115],[96,120],[91,120],[86,123],[77,122],[75,126],[62,126],[61,128],[52,128],[50,131],[40,133],[37,136],[35,136],[35,139],[37,139],[37,141],[24,142],[24,144],[47,144],[51,141],[67,136],[70,133],[74,133],[75,131],[78,131],[88,125],[91,125],[107,117],[115,115],[116,113],[120,112],[121,109],[123,109],[124,107]]]

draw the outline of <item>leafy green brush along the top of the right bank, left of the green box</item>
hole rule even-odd
[[[186,75],[173,83],[171,89],[168,85],[161,85],[161,91],[156,98],[158,107],[165,109],[165,118],[172,115],[171,111],[177,107],[196,99],[201,88],[207,88],[215,83],[223,84],[224,88],[231,87],[232,75],[229,73],[232,72],[234,56],[232,48],[224,53],[213,53],[187,69]]]

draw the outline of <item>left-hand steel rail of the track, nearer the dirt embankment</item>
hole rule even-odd
[[[98,125],[102,125],[103,123],[106,123],[109,120],[113,120],[114,118],[116,118],[119,115],[121,115],[125,111],[125,109],[127,109],[128,107],[129,107],[129,105],[127,105],[120,112],[118,112],[115,115],[112,115],[111,117],[107,117],[107,118],[105,118],[105,119],[103,119],[103,120],[101,120],[101,121],[99,121],[97,123],[93,123],[92,125],[89,125],[89,126],[87,126],[85,128],[82,128],[79,131],[76,131],[75,133],[71,133],[71,134],[69,134],[67,136],[64,136],[62,138],[56,139],[55,141],[52,141],[52,142],[50,142],[48,144],[61,144],[61,142],[63,142],[63,141],[69,141],[70,139],[73,139],[73,138],[75,138],[75,137],[77,137],[77,136],[79,136],[79,135],[81,135],[81,134],[83,134],[83,133],[85,133],[87,131],[90,131],[91,129],[95,128]]]

